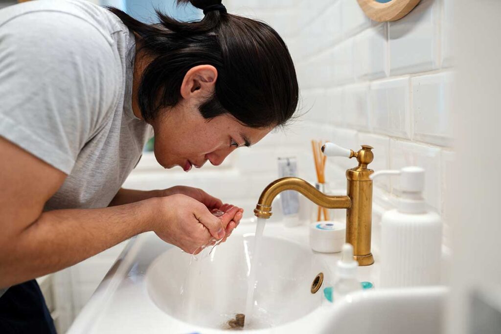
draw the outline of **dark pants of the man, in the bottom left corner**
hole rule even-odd
[[[35,279],[11,286],[0,296],[0,333],[56,333],[54,321]]]

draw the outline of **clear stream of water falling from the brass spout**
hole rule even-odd
[[[263,231],[265,229],[265,218],[258,218],[258,224],[256,226],[256,234],[254,235],[254,247],[252,250],[252,259],[250,260],[250,269],[247,277],[247,299],[245,303],[245,323],[244,327],[248,327],[249,324],[252,324],[254,319],[254,291],[257,286],[257,272],[259,265],[259,257],[260,257],[260,243],[263,238]]]

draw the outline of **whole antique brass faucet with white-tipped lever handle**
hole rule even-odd
[[[373,148],[362,145],[358,152],[326,143],[322,152],[327,156],[356,157],[358,166],[346,171],[347,195],[329,196],[317,190],[307,181],[297,177],[284,177],[270,183],[261,193],[254,214],[258,218],[270,218],[273,199],[282,191],[295,190],[317,205],[327,209],[346,209],[346,242],[353,246],[353,257],[359,265],[371,265],[372,180],[374,173],[367,165],[374,159]]]

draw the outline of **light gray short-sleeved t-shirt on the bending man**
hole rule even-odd
[[[134,54],[88,2],[0,10],[0,136],[68,174],[45,211],[107,206],[139,161],[153,130],[132,112]]]

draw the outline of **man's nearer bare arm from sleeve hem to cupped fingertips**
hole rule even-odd
[[[206,204],[180,193],[43,212],[66,174],[2,137],[0,156],[0,287],[65,268],[148,230],[197,252],[211,238],[229,235],[241,218],[237,207],[215,217]]]

